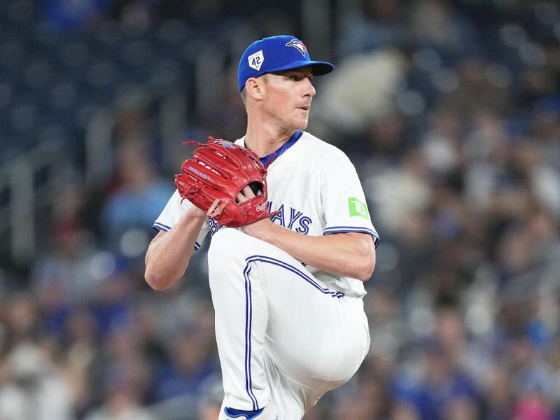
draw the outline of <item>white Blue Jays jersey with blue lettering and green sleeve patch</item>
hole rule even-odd
[[[244,139],[236,144],[244,145]],[[266,160],[266,158],[262,158]],[[304,235],[330,235],[360,232],[379,241],[365,204],[358,174],[349,158],[338,148],[307,132],[296,132],[274,155],[267,174],[269,209],[278,211],[272,221]],[[153,224],[157,230],[169,230],[192,207],[175,191],[162,214]],[[195,249],[204,237],[218,230],[212,219],[197,237]],[[363,283],[335,276],[307,266],[309,272],[327,286],[349,295],[364,295]]]

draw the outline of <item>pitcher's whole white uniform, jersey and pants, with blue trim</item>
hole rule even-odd
[[[244,139],[236,141],[244,145]],[[303,235],[377,232],[356,170],[330,144],[296,132],[268,166],[272,221]],[[169,230],[193,206],[175,192],[154,223]],[[357,279],[303,267],[302,262],[237,229],[204,223],[209,247],[209,287],[225,407],[255,411],[274,402],[285,419],[301,419],[325,392],[358,370],[370,337]],[[274,413],[272,413],[274,415]]]

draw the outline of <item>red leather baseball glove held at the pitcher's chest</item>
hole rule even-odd
[[[183,173],[175,176],[175,185],[183,200],[206,211],[218,226],[230,228],[274,214],[268,211],[267,168],[255,153],[214,137],[209,137],[206,144],[198,141],[183,144],[198,145],[193,158],[183,162]],[[255,197],[239,202],[237,195],[246,186]]]

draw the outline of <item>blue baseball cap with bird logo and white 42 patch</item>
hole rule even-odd
[[[239,60],[237,69],[239,92],[245,87],[248,78],[303,66],[311,66],[314,76],[322,76],[335,69],[335,66],[329,62],[312,61],[305,44],[293,36],[278,35],[262,38],[249,45]]]

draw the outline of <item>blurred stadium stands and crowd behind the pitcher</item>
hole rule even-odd
[[[369,356],[305,420],[560,419],[558,3],[0,10],[0,168],[60,145],[31,172],[32,253],[14,259],[24,226],[0,226],[0,419],[216,419],[204,251],[160,293],[143,257],[181,142],[244,134],[237,57],[282,33],[337,65],[315,80],[309,131],[355,162],[381,236]]]

